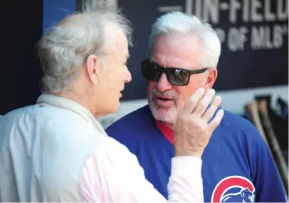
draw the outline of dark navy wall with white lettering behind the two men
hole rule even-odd
[[[218,91],[288,84],[288,0],[111,0],[123,8],[135,29],[130,51],[132,82],[123,100],[146,97],[140,61],[155,19],[165,11],[195,14],[209,22],[222,42]],[[248,3],[248,4],[246,4]]]

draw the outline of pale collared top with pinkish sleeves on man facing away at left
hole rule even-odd
[[[172,159],[167,200],[87,109],[55,95],[0,117],[0,160],[0,202],[204,202],[199,158]]]

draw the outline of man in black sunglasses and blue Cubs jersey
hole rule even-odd
[[[106,130],[137,155],[147,179],[164,197],[177,115],[198,88],[214,94],[220,53],[221,43],[209,24],[182,12],[159,17],[149,37],[149,58],[141,63],[148,105]],[[212,105],[220,102],[216,98]],[[273,157],[247,120],[225,110],[202,158],[205,202],[286,201]]]

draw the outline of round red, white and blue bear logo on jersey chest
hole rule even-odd
[[[230,176],[216,185],[211,202],[254,202],[255,187],[249,179]]]

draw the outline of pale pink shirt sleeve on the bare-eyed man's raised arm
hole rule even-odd
[[[86,202],[204,202],[201,160],[174,157],[168,190],[167,201],[145,179],[135,155],[115,140],[90,155],[80,186]]]

